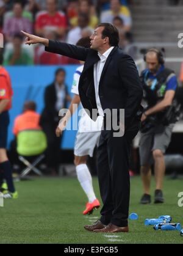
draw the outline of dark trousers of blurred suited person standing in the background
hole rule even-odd
[[[48,148],[46,150],[46,164],[50,169],[57,170],[60,163],[60,146],[62,136],[56,136],[56,128],[58,123],[41,123],[43,131],[45,131]]]

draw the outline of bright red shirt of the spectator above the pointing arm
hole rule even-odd
[[[35,29],[43,29],[46,26],[66,28],[66,25],[66,17],[63,12],[57,12],[54,16],[49,16],[48,13],[42,13],[38,15],[35,21]]]

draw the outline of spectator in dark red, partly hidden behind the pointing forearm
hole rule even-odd
[[[45,33],[45,37],[49,40],[57,40],[57,35],[54,31]],[[60,54],[48,53],[45,51],[44,45],[38,45],[35,48],[35,64],[37,65],[66,65],[79,64],[78,60],[70,59]]]

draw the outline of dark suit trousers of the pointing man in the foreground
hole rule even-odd
[[[129,158],[132,139],[140,128],[134,122],[123,137],[113,137],[113,131],[102,131],[98,147],[98,179],[104,206],[101,222],[127,226],[130,200]]]

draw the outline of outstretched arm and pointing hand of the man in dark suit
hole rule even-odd
[[[68,43],[61,43],[59,41],[48,40],[46,38],[37,37],[36,35],[30,35],[24,31],[21,31],[26,35],[26,45],[42,43],[46,46],[45,51],[50,53],[57,53],[63,56],[71,57],[73,59],[85,61],[87,58],[89,48],[70,45]]]

